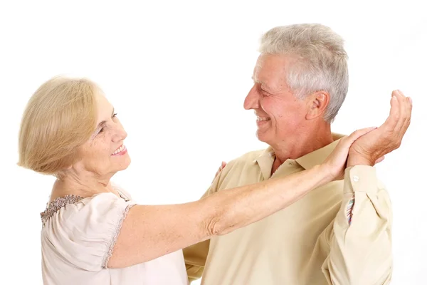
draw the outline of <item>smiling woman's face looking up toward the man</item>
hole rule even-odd
[[[102,93],[95,98],[97,126],[88,142],[80,148],[82,159],[77,164],[98,177],[109,177],[130,165],[130,156],[123,144],[127,133],[107,98]]]

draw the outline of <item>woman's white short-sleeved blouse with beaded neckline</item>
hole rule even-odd
[[[135,205],[127,192],[121,198],[102,193],[83,198],[60,197],[41,213],[43,284],[186,285],[182,250],[122,269],[110,269],[122,222]]]

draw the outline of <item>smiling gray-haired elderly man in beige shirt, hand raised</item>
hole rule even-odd
[[[342,135],[331,122],[347,94],[343,41],[320,24],[263,35],[244,107],[255,110],[266,150],[229,162],[206,195],[309,169]],[[391,204],[373,167],[399,147],[412,102],[392,93],[386,122],[354,142],[344,180],[313,190],[270,217],[184,249],[189,280],[206,285],[389,284]]]

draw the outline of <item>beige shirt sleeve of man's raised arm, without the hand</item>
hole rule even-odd
[[[322,271],[328,284],[389,284],[391,223],[389,195],[375,168],[347,168],[342,205],[326,237],[330,254]]]

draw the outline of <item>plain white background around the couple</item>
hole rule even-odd
[[[425,284],[427,19],[416,2],[2,1],[0,284],[41,284],[39,213],[53,178],[16,166],[21,114],[41,83],[99,83],[129,134],[132,165],[115,182],[140,203],[189,202],[221,160],[265,147],[243,110],[258,40],[305,22],[346,41],[350,86],[334,132],[380,125],[396,88],[413,98],[404,142],[378,169],[394,207],[392,284]]]

